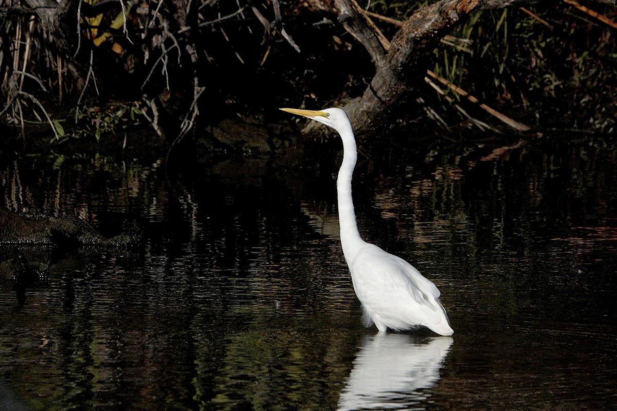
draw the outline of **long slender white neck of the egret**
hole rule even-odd
[[[339,201],[339,226],[341,228],[341,246],[343,254],[350,264],[358,253],[363,240],[358,232],[355,221],[354,200],[351,195],[351,179],[354,174],[358,153],[355,145],[354,132],[351,126],[338,130],[343,142],[343,162],[336,180],[336,191]]]

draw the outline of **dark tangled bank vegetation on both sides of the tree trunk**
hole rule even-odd
[[[375,69],[337,22],[340,1],[201,0],[196,15],[182,0],[173,3],[187,15],[159,2],[99,3],[74,0],[62,15],[24,15],[12,13],[14,1],[0,2],[0,121],[17,126],[13,134],[23,137],[30,121],[48,125],[56,140],[98,141],[145,124],[175,144],[196,121],[353,99]],[[387,18],[403,22],[430,4],[379,0],[368,11],[392,39],[400,24]],[[502,128],[483,103],[531,128],[614,132],[617,9],[586,4],[474,12],[442,38],[432,60],[417,62],[445,80],[427,80],[412,100],[445,129]],[[62,24],[51,30],[46,18]],[[57,46],[47,47],[54,39]]]

